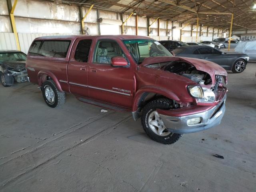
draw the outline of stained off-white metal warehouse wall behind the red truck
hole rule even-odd
[[[35,11],[36,10],[36,11]],[[87,7],[82,7],[83,15],[88,12]],[[78,6],[70,6],[67,4],[56,4],[54,2],[42,2],[40,0],[19,0],[14,12],[16,20],[16,28],[18,31],[21,50],[25,53],[34,38],[39,36],[60,35],[60,34],[80,34],[80,14]],[[128,14],[123,14],[123,21],[128,18]],[[121,20],[121,14],[117,12],[110,12],[99,10],[99,17]],[[98,28],[97,10],[92,9],[86,19],[85,26],[90,29],[90,34],[121,34],[121,27],[118,25],[109,25],[100,23]],[[152,24],[154,18],[149,19]],[[158,22],[160,26],[160,34],[158,34]],[[167,23],[168,22],[168,29]],[[179,22],[172,22],[166,20],[157,20],[150,27],[151,38],[155,40],[180,40],[181,30],[173,29],[172,26],[185,26]],[[126,34],[136,34],[136,16],[132,16],[124,24],[127,29]],[[191,30],[192,36],[191,36]],[[199,29],[198,29],[199,30]],[[138,35],[148,36],[147,34],[147,18],[138,16]],[[16,42],[14,35],[11,33],[12,28],[10,18],[8,16],[8,7],[6,0],[0,0],[0,49],[16,49]],[[166,34],[168,32],[168,35]],[[209,28],[208,37],[205,37],[206,26],[203,27],[201,40],[212,40],[213,29]],[[187,25],[182,29],[182,39],[191,41],[196,36],[196,26]],[[198,34],[198,37],[200,34]],[[222,33],[220,32],[220,37]],[[217,38],[217,34],[214,34]]]

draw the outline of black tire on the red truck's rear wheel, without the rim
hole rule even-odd
[[[46,98],[45,88],[47,86],[50,86],[52,88],[52,90],[54,91],[55,99],[54,99],[53,103],[49,102]],[[56,86],[56,84],[54,83],[53,80],[47,80],[43,83],[43,85],[42,85],[42,94],[43,94],[43,97],[44,97],[44,101],[46,102],[46,104],[49,107],[56,108],[56,107],[62,106],[65,103],[65,99],[66,99],[65,93],[60,92],[58,90],[58,88],[57,88],[57,86]]]

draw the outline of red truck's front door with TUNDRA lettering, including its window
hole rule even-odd
[[[119,40],[120,41],[120,40]],[[111,58],[126,58],[116,40],[98,39],[94,46],[92,62],[88,66],[89,96],[124,108],[132,107],[134,94],[134,66],[111,66]]]

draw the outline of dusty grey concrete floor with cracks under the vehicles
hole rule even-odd
[[[229,72],[220,126],[172,145],[150,140],[128,112],[100,113],[70,94],[54,109],[37,85],[1,85],[0,191],[256,191],[255,72]]]

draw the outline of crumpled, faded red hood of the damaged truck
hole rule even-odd
[[[149,57],[145,58],[142,62],[142,66],[149,64],[163,63],[169,61],[184,61],[188,64],[195,66],[197,70],[208,73],[212,78],[212,84],[215,84],[215,75],[227,76],[227,72],[224,68],[214,62],[210,62],[202,59],[188,58],[188,57]],[[227,78],[226,78],[227,79]]]

